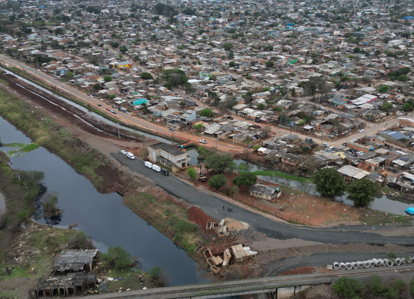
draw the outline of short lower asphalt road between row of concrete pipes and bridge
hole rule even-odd
[[[413,256],[414,253],[402,253],[397,256],[405,257],[406,255]],[[326,266],[327,264],[333,264],[334,262],[357,262],[370,260],[372,258],[385,259],[388,257],[386,253],[315,253],[313,255],[290,257],[270,262],[267,264],[267,270],[264,271],[263,276],[276,276],[300,266]],[[381,267],[381,269],[386,268]]]

